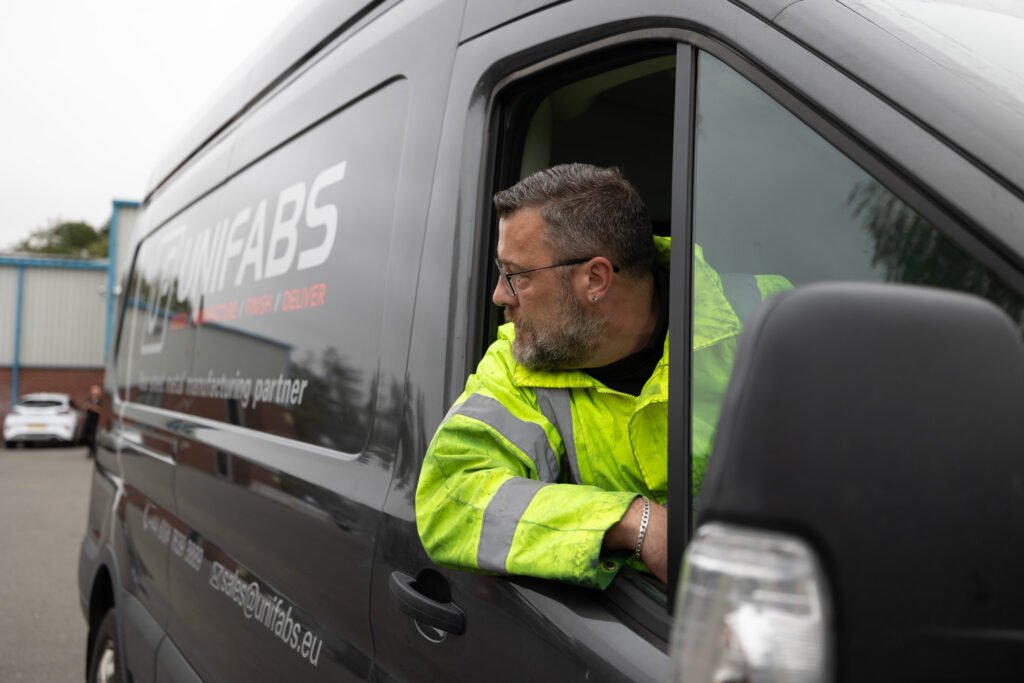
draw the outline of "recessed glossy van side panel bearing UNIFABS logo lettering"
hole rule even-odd
[[[131,400],[362,449],[406,100],[396,82],[349,105],[145,240]]]

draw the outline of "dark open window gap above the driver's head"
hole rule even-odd
[[[503,131],[496,159],[494,191],[558,164],[617,167],[647,205],[655,234],[671,234],[672,136],[675,105],[674,45],[632,47],[603,59],[588,54],[522,79],[499,100]],[[483,198],[493,210],[490,198]],[[492,221],[487,262],[497,245]],[[498,276],[490,266],[489,283]],[[487,334],[495,339],[501,311],[486,292]]]

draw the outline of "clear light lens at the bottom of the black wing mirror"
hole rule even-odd
[[[686,550],[673,626],[682,683],[831,681],[830,599],[814,551],[727,524]]]

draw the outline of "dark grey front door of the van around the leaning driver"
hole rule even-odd
[[[681,408],[670,413],[680,416],[671,427],[679,438],[670,435],[667,454],[678,470],[674,537],[688,537],[691,478],[699,486],[689,467],[699,362],[689,304],[702,286],[690,263],[698,246],[722,273],[771,273],[793,285],[919,278],[980,288],[1019,315],[1019,287],[1000,276],[997,255],[965,239],[880,162],[883,154],[851,139],[852,128],[823,122],[815,102],[794,94],[813,85],[857,95],[835,89],[838,73],[780,86],[773,70],[800,77],[828,67],[732,2],[655,0],[641,11],[565,2],[517,20],[476,22],[460,45],[417,290],[408,417],[374,566],[381,678],[666,676],[671,616],[662,587],[644,577],[623,572],[600,594],[449,570],[418,544],[422,455],[498,323],[488,303],[496,189],[557,163],[615,164],[647,200],[655,231],[676,238],[672,392]],[[930,249],[915,249],[922,244]],[[711,394],[699,398],[713,431],[720,394]]]

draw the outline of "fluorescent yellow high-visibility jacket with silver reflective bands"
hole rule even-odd
[[[655,239],[668,267],[670,242]],[[729,285],[766,296],[772,278]],[[779,279],[784,283],[783,279]],[[702,476],[742,325],[722,279],[694,259],[694,480]],[[756,305],[756,301],[750,306]],[[737,304],[737,307],[739,305]],[[537,372],[499,328],[427,450],[416,521],[445,566],[605,588],[631,553],[605,553],[607,529],[637,496],[668,497],[669,339],[639,396],[584,372]]]

